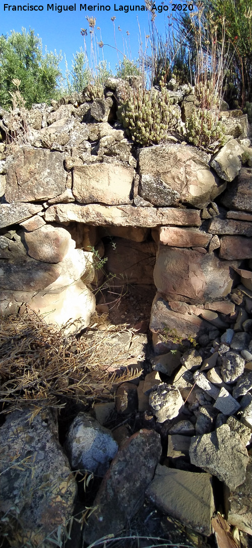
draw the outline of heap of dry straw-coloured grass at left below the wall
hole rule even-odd
[[[126,324],[103,324],[97,318],[89,334],[76,339],[64,335],[63,329],[47,325],[43,317],[26,311],[23,316],[9,316],[0,327],[0,413],[24,405],[34,413],[45,405],[62,407],[66,398],[92,403],[112,397],[115,384],[136,378],[127,372],[116,379],[108,368],[120,362],[108,351],[115,333],[127,331]],[[133,333],[133,332],[132,332]],[[102,367],[101,367],[102,366]]]

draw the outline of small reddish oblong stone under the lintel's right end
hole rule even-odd
[[[207,247],[211,239],[207,232],[198,229],[180,229],[177,226],[162,226],[159,237],[161,244],[173,247]]]

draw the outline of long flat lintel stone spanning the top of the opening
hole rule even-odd
[[[133,206],[78,206],[62,204],[50,206],[45,212],[46,221],[77,221],[95,226],[200,226],[200,212],[178,208],[143,208]]]

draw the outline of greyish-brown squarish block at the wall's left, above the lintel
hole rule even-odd
[[[62,152],[22,146],[7,161],[7,202],[46,200],[64,192],[67,181],[64,158]]]

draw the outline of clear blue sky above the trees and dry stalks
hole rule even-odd
[[[73,54],[77,52],[77,50],[79,50],[81,46],[84,47],[84,38],[80,34],[80,29],[81,27],[87,28],[87,31],[89,32],[89,25],[86,20],[86,16],[96,17],[96,28],[97,26],[101,28],[101,31],[96,30],[98,38],[100,38],[101,36],[104,44],[110,44],[113,47],[115,47],[115,25],[116,46],[122,52],[125,51],[127,56],[131,59],[138,57],[139,27],[142,33],[143,42],[145,34],[149,33],[149,13],[146,11],[130,12],[130,10],[128,13],[125,13],[125,10],[123,12],[120,12],[119,6],[127,5],[125,3],[122,3],[120,0],[116,0],[115,4],[110,0],[107,0],[107,2],[103,2],[103,0],[100,0],[98,5],[107,5],[110,7],[110,10],[107,10],[107,12],[97,12],[97,8],[95,12],[91,10],[85,11],[84,9],[80,10],[80,5],[85,4],[84,2],[82,4],[76,2],[75,11],[63,11],[62,8],[61,13],[55,9],[55,2],[53,3],[54,11],[52,11],[51,9],[48,10],[48,3],[44,2],[44,0],[30,0],[30,2],[24,2],[24,0],[12,0],[12,2],[15,2],[15,4],[7,4],[3,0],[0,0],[0,2],[1,34],[9,34],[11,30],[20,32],[22,27],[25,27],[26,30],[29,30],[29,28],[31,27],[32,29],[34,29],[36,34],[38,34],[39,37],[42,38],[43,47],[45,47],[46,45],[48,50],[54,51],[56,49],[57,53],[62,50],[62,54],[66,54],[68,68],[71,68]],[[163,11],[162,13],[157,13],[155,22],[157,23],[157,27],[160,28],[160,30],[165,27],[165,22],[166,24],[168,22],[167,14],[171,14],[172,4],[168,2],[169,0],[165,0],[165,2],[163,2],[163,5],[166,5],[166,11]],[[4,4],[6,4],[5,10]],[[51,4],[52,2],[49,2],[49,5]],[[139,0],[137,4],[144,5],[144,0]],[[31,5],[39,5],[43,7],[43,10],[41,10],[40,8],[40,11],[13,11],[12,8],[10,8],[10,10],[8,9],[9,5],[11,7],[13,5],[16,5],[16,7],[17,5],[21,5],[22,8],[28,7],[28,5],[29,7]],[[70,5],[74,5],[74,3],[70,0],[68,1],[68,3],[65,2],[63,4],[58,2],[56,3],[56,5],[65,5],[65,7],[69,7]],[[86,3],[86,7],[89,5],[93,6],[97,4],[95,4],[95,2]],[[135,4],[131,3],[128,5],[133,6]],[[160,6],[161,9],[161,2],[156,2],[156,7],[157,6]],[[118,11],[114,9],[115,7],[118,9]],[[114,21],[114,25],[111,21],[111,18],[113,16],[115,16],[116,18]],[[119,26],[121,30],[118,29]],[[87,37],[87,41],[88,40],[89,37]],[[115,64],[118,64],[118,54],[116,53],[116,50],[109,47],[109,45],[104,45],[102,49],[97,48],[97,51],[99,55],[101,55],[101,60],[102,55],[104,55],[104,59],[110,61],[112,70],[114,70]],[[121,57],[122,56],[119,54],[119,58]],[[64,72],[65,65],[63,61],[61,63],[61,68]]]

